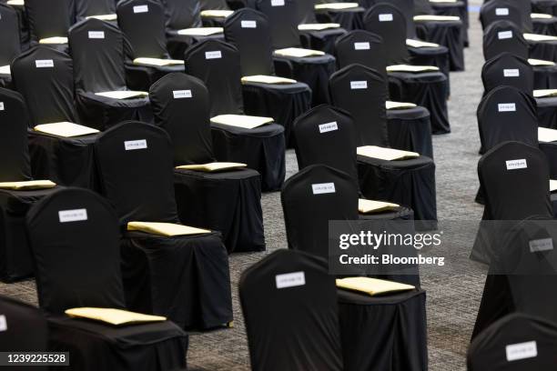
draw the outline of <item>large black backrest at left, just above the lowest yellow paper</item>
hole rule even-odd
[[[64,188],[27,214],[39,306],[61,315],[79,306],[125,307],[114,210],[83,188]]]

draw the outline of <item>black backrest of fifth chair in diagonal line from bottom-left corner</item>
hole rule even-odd
[[[186,73],[196,76],[208,88],[211,116],[243,113],[240,57],[234,45],[205,40],[190,46],[184,61]]]

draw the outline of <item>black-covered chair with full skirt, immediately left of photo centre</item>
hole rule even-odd
[[[177,98],[189,92],[189,97]],[[169,74],[149,91],[156,125],[172,138],[174,165],[215,161],[209,125],[208,90],[196,77]],[[261,180],[257,171],[218,173],[176,169],[177,212],[188,226],[209,227],[223,235],[228,252],[265,249]]]

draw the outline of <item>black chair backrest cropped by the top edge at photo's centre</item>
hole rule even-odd
[[[296,0],[258,0],[256,7],[268,18],[273,49],[300,45]]]

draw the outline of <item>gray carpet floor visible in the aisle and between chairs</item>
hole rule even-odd
[[[471,0],[477,5],[479,0]],[[466,50],[466,71],[451,73],[449,102],[451,134],[433,138],[437,165],[437,202],[440,220],[477,223],[482,207],[474,204],[478,187],[476,165],[479,136],[476,108],[481,87],[481,27],[478,14],[471,13],[471,47]],[[292,150],[287,153],[287,175],[298,171]],[[248,343],[238,302],[238,279],[242,271],[279,248],[287,248],[279,193],[262,198],[267,251],[230,256],[235,326],[208,334],[190,336],[187,362],[197,371],[240,371],[249,369]],[[467,259],[473,234],[451,235],[443,254],[456,262],[451,269],[424,269],[422,287],[427,291],[428,346],[431,371],[465,370],[471,329],[481,299],[485,272]],[[0,294],[36,304],[35,282],[27,280],[0,284]],[[286,371],[286,370],[285,370]]]

